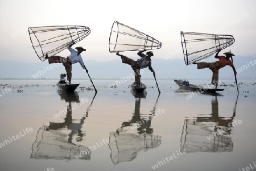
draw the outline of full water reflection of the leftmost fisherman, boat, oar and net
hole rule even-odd
[[[49,122],[48,126],[39,128],[36,140],[32,144],[32,159],[57,159],[57,160],[72,160],[84,159],[90,160],[92,151],[80,145],[85,136],[85,132],[81,131],[84,120],[88,117],[88,112],[96,97],[94,95],[92,102],[86,109],[85,115],[81,119],[72,119],[72,107],[78,107],[82,102],[79,100],[79,94],[76,92],[67,93],[65,91],[57,91],[61,100],[68,102],[64,122]],[[63,110],[64,112],[64,110]],[[74,140],[75,138],[75,140]],[[82,152],[83,155],[77,158],[77,154]],[[86,153],[85,153],[86,152]]]

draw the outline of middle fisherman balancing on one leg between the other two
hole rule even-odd
[[[135,84],[137,87],[141,86],[141,75],[140,75],[140,69],[146,68],[148,66],[148,69],[151,70],[151,72],[153,73],[154,77],[155,77],[155,72],[154,69],[151,66],[151,56],[154,56],[154,53],[152,51],[148,51],[146,53],[146,55],[142,52],[144,51],[139,51],[137,53],[137,55],[139,55],[141,57],[141,59],[138,59],[137,61],[134,61],[132,59],[130,59],[127,56],[124,55],[120,55],[119,52],[117,52],[116,55],[121,56],[122,62],[128,65],[131,65],[131,68],[133,68],[134,70],[134,76],[135,76]]]

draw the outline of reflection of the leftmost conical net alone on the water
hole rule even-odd
[[[48,130],[42,126],[38,130],[35,142],[32,144],[32,159],[90,160],[91,151],[88,147],[68,143],[67,134],[61,130]],[[85,153],[86,152],[86,153]]]

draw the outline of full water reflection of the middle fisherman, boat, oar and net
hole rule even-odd
[[[141,114],[141,99],[146,98],[146,91],[141,94],[134,93],[135,107],[131,120],[123,122],[122,126],[115,132],[110,132],[109,148],[110,158],[114,164],[122,161],[131,161],[137,157],[140,151],[147,151],[159,147],[161,136],[153,135],[151,120],[155,116],[155,108],[158,102],[151,110],[151,114]]]

